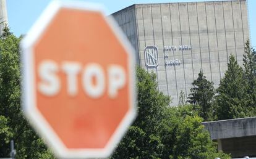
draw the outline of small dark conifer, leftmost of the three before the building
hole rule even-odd
[[[215,89],[213,88],[213,82],[210,82],[203,76],[202,71],[198,73],[197,80],[192,83],[193,88],[190,89],[188,102],[190,104],[199,105],[199,115],[204,120],[209,120],[211,113],[211,102],[215,95]]]

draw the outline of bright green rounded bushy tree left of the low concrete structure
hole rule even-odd
[[[216,143],[211,141],[202,121],[194,105],[169,107],[160,129],[164,144],[161,158],[230,158],[217,152]]]

